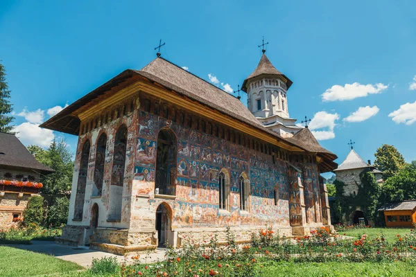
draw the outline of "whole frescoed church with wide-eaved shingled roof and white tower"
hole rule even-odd
[[[331,225],[320,173],[336,155],[289,117],[291,84],[263,52],[247,108],[157,57],[73,102],[41,125],[79,138],[60,242],[125,253],[223,240],[227,226],[244,243]]]

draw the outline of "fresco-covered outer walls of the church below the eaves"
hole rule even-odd
[[[123,253],[126,249],[155,248],[161,239],[155,231],[157,208],[161,204],[166,208],[171,227],[167,239],[174,246],[180,246],[191,235],[198,241],[217,233],[222,240],[226,226],[231,227],[239,242],[248,242],[251,231],[269,226],[281,235],[292,235],[293,226],[302,229],[300,233],[307,232],[307,226],[322,226],[323,192],[312,155],[291,165],[290,153],[273,156],[266,150],[271,145],[259,146],[254,141],[247,145],[237,139],[234,131],[220,131],[208,120],[202,123],[201,118],[191,115],[183,120],[178,111],[168,112],[167,107],[159,104],[150,112],[148,105],[143,104],[124,116],[110,111],[110,118],[100,118],[91,131],[80,134],[69,220],[62,240],[87,243],[89,235],[95,232],[92,247],[96,249]],[[125,153],[115,153],[115,137],[122,125],[128,129]],[[176,155],[168,159],[176,164],[166,171],[172,180],[166,194],[155,195],[157,136],[162,129],[175,136],[170,148]],[[107,138],[105,151],[99,150],[102,134]],[[91,146],[85,158],[87,163],[82,166],[85,143]],[[100,155],[105,155],[103,166],[97,161],[102,159]],[[124,169],[119,168],[120,163],[114,163],[120,155],[125,157]],[[220,172],[225,174],[229,188],[224,209],[218,203]],[[123,181],[115,184],[114,178],[119,176],[123,176]],[[240,177],[249,184],[245,211],[240,208]],[[78,186],[85,188],[80,191]],[[96,206],[98,210],[94,210]],[[80,218],[74,216],[77,209],[82,214]],[[98,211],[96,223],[92,211]],[[117,211],[121,217],[114,220]],[[98,226],[95,230],[94,224]],[[80,231],[78,226],[85,226],[85,230]],[[117,250],[110,244],[123,248]]]

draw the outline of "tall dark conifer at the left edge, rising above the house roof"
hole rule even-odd
[[[10,104],[10,90],[6,81],[6,69],[3,64],[0,64],[0,132],[11,133],[13,125],[10,125],[15,119],[13,116],[8,116],[13,111],[12,104]]]

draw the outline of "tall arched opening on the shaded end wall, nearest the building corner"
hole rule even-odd
[[[127,132],[127,127],[125,127],[125,125],[121,125],[117,130],[114,139],[114,154],[110,185],[110,211],[108,212],[109,221],[121,220]]]

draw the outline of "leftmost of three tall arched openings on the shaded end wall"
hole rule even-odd
[[[80,167],[78,170],[78,184],[76,186],[76,197],[73,211],[73,220],[83,220],[85,185],[87,184],[89,141],[85,141],[81,152]]]

